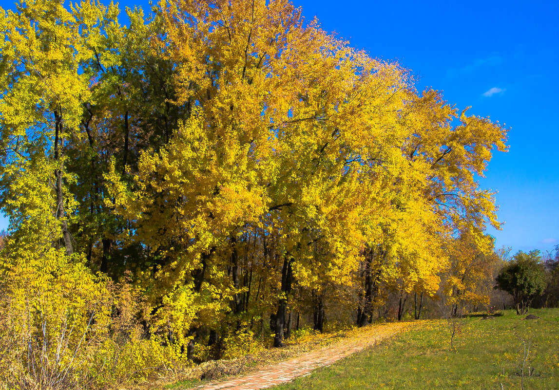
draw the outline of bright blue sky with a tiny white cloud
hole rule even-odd
[[[497,246],[551,250],[559,244],[559,2],[295,0],[374,57],[397,60],[417,88],[506,123],[510,151],[491,160],[482,187],[499,193]],[[147,1],[121,1],[121,7]],[[3,8],[11,2],[0,0]],[[7,221],[0,218],[0,229]]]

